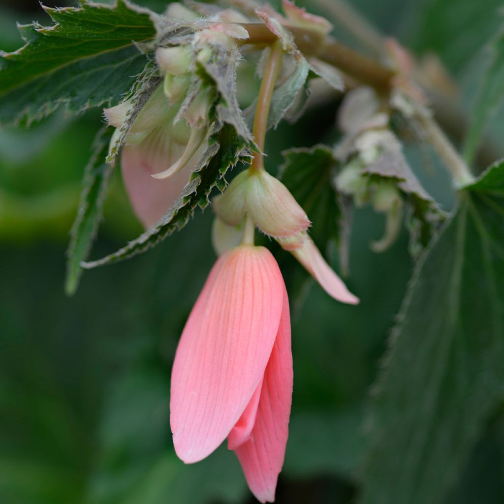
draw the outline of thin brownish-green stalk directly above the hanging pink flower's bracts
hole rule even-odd
[[[256,115],[254,117],[254,128],[252,133],[259,152],[256,153],[250,169],[264,169],[264,143],[266,139],[266,130],[268,129],[268,115],[270,113],[271,98],[275,83],[278,77],[278,71],[282,64],[283,49],[282,43],[277,40],[271,46],[270,55],[266,63],[261,89],[259,90]]]

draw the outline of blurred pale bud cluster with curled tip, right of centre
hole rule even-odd
[[[376,212],[386,215],[383,238],[371,243],[374,251],[384,251],[401,229],[403,198],[397,178],[381,176],[386,172],[375,171],[373,166],[384,152],[390,154],[384,161],[394,162],[402,156],[401,146],[388,129],[389,114],[382,110],[379,97],[370,88],[361,87],[347,93],[338,119],[345,136],[335,154],[344,167],[334,183],[338,191],[353,197],[357,207],[371,204]]]

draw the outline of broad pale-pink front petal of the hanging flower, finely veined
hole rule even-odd
[[[212,453],[263,378],[284,297],[264,247],[239,246],[213,267],[182,332],[171,374],[170,423],[186,463]]]

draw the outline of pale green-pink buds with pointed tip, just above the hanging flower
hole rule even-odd
[[[214,227],[218,230],[214,232],[218,252],[240,239],[246,216],[292,253],[330,296],[344,303],[358,302],[310,238],[307,232],[310,221],[304,210],[287,187],[263,168],[251,166],[238,174],[223,195],[214,199],[213,208],[218,222]]]

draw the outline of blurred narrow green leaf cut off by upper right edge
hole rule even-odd
[[[504,98],[504,28],[499,30],[486,50],[490,53],[490,65],[482,79],[467,133],[464,156],[468,163],[476,154],[488,119]]]

